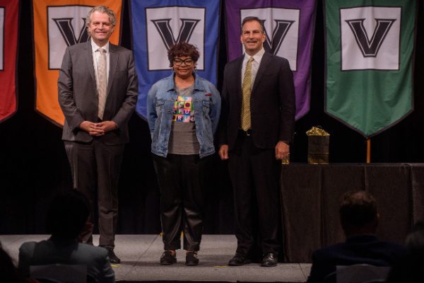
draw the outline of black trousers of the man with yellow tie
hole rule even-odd
[[[278,253],[278,178],[281,161],[274,149],[257,148],[239,132],[229,152],[228,169],[234,192],[237,253],[251,254],[259,228],[262,253]]]

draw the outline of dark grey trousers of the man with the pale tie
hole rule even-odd
[[[114,248],[118,221],[118,180],[124,144],[107,145],[99,139],[90,143],[64,141],[71,165],[73,187],[86,195],[90,207],[98,202],[99,246]],[[97,197],[96,197],[97,188]],[[90,218],[93,221],[93,209]],[[93,243],[91,233],[83,241]]]

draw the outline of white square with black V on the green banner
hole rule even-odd
[[[399,70],[401,8],[340,9],[341,69]]]

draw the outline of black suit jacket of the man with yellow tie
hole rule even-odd
[[[225,65],[218,142],[235,144],[242,110],[243,56]],[[252,139],[255,146],[271,149],[278,141],[290,142],[295,125],[295,88],[288,60],[265,52],[250,100]]]

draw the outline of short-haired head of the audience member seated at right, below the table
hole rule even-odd
[[[340,205],[340,221],[346,236],[375,233],[379,221],[377,202],[364,190],[349,191]]]

